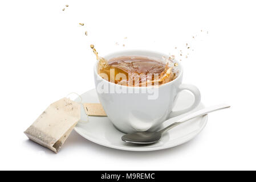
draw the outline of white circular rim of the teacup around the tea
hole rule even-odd
[[[111,53],[108,53],[107,55],[103,56],[103,57],[109,57],[111,55],[115,55],[115,54],[121,54],[121,53],[127,53],[127,52],[148,52],[148,53],[154,53],[154,54],[157,54],[157,55],[161,55],[161,56],[166,56],[166,57],[169,57],[168,55],[166,55],[166,53],[161,53],[161,52],[158,52],[158,51],[151,51],[151,50],[147,50],[147,49],[128,49],[128,50],[124,50],[124,51],[115,51],[115,52],[111,52]],[[135,56],[135,55],[132,55],[131,56]],[[137,55],[139,56],[139,55]],[[174,60],[174,63],[177,63],[177,60]],[[167,85],[171,85],[171,84],[174,84],[175,82],[177,82],[178,78],[181,77],[181,75],[183,74],[183,66],[182,64],[179,62],[178,63],[178,66],[180,67],[180,69],[178,70],[179,73],[178,73],[178,76],[177,78],[175,78],[174,80],[172,81],[169,81],[165,84],[162,84],[162,85],[153,85],[153,86],[127,86],[127,85],[119,85],[119,84],[115,84],[113,82],[110,82],[110,81],[107,81],[105,79],[103,79],[99,73],[97,72],[97,66],[98,66],[99,62],[96,61],[96,63],[94,64],[94,73],[96,74],[97,77],[99,77],[102,81],[104,82],[107,82],[109,84],[112,84],[112,85],[118,85],[118,86],[125,86],[125,88],[159,88],[160,86],[167,86]]]

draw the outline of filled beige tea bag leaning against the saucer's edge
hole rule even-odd
[[[24,132],[29,139],[58,152],[80,119],[80,105],[68,98],[52,103]]]

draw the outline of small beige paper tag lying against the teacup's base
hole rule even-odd
[[[83,105],[87,115],[107,116],[103,106],[99,103],[84,103]]]

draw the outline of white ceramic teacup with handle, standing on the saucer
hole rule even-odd
[[[104,56],[109,60],[119,56],[145,56],[153,59],[168,57],[155,51],[120,51]],[[136,131],[155,131],[169,118],[186,113],[200,103],[200,91],[194,85],[182,84],[183,69],[178,63],[178,77],[160,86],[123,86],[104,80],[94,67],[96,92],[101,104],[113,125],[124,133]],[[172,111],[177,94],[189,90],[194,94],[194,103],[188,109]]]

